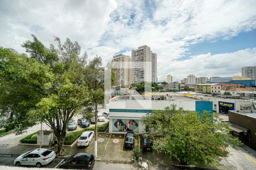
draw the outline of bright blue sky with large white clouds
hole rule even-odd
[[[158,80],[241,75],[256,66],[256,1],[0,1],[0,46],[34,34],[44,45],[77,41],[89,58],[148,45],[158,55]]]

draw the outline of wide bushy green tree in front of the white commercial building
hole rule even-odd
[[[166,152],[181,164],[210,165],[218,163],[228,151],[222,147],[240,142],[229,134],[228,124],[213,114],[176,110],[154,111],[143,118],[149,135],[156,135],[154,148]]]

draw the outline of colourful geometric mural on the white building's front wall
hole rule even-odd
[[[113,119],[113,131],[134,131],[139,132],[138,120]]]

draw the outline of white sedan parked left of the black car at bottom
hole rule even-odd
[[[34,151],[28,151],[14,160],[14,165],[36,165],[40,168],[42,165],[47,165],[55,159],[55,152],[46,148],[38,148]]]

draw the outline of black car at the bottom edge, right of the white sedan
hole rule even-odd
[[[88,153],[73,155],[60,164],[63,169],[93,169],[94,156]]]

